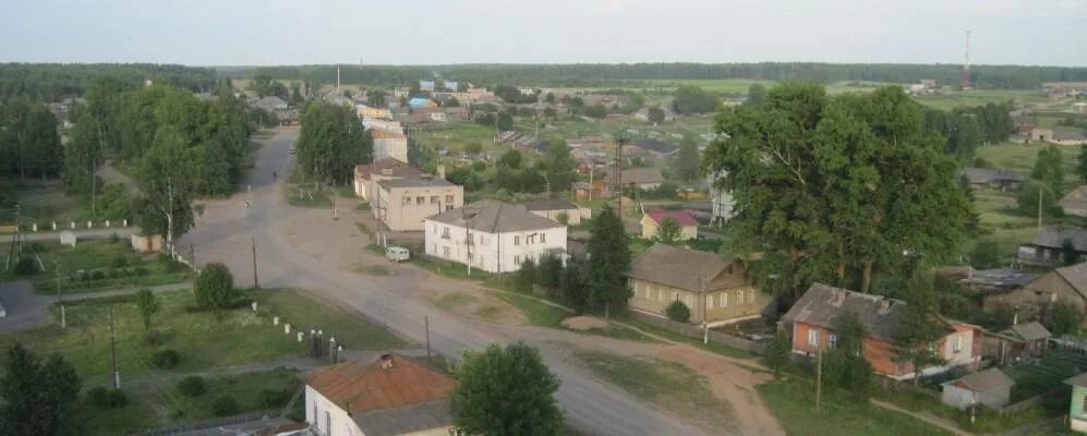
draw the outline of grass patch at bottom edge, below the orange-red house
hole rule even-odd
[[[790,436],[950,435],[902,413],[826,392],[814,413],[816,389],[807,379],[774,380],[756,387]]]

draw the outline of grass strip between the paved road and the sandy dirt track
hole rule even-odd
[[[730,427],[728,407],[716,400],[702,376],[683,364],[584,349],[576,350],[573,359],[597,377],[685,419],[711,428]]]

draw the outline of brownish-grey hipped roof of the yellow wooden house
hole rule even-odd
[[[708,291],[747,284],[744,268],[714,253],[654,244],[630,265],[627,277],[700,292],[700,279],[709,280]]]

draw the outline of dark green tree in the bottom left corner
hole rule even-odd
[[[53,354],[45,362],[22,344],[7,350],[0,374],[0,431],[5,435],[80,435],[74,419],[83,382]]]

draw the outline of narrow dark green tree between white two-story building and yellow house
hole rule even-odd
[[[590,307],[604,307],[608,314],[611,306],[621,305],[630,298],[626,274],[630,270],[630,246],[623,220],[604,205],[600,215],[593,218],[590,229],[589,265],[585,288],[589,291]]]

